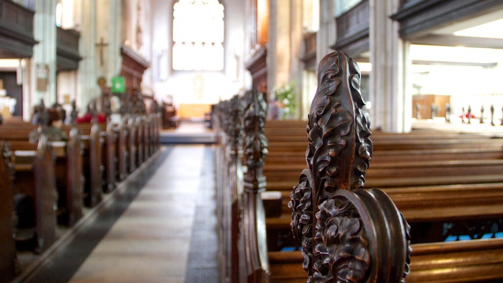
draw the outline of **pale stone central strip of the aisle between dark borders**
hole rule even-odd
[[[177,146],[70,282],[183,283],[203,146]]]

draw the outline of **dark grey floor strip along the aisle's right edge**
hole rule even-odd
[[[196,215],[192,226],[186,283],[219,281],[216,199],[213,150],[204,151],[201,183],[196,196]]]

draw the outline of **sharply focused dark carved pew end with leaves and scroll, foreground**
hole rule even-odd
[[[292,231],[307,282],[404,282],[408,225],[378,189],[363,190],[372,155],[360,71],[342,52],[318,66],[306,150],[308,169],[291,194]]]

